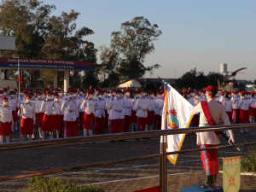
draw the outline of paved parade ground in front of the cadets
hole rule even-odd
[[[79,135],[82,135],[79,131]],[[36,133],[38,137],[38,132]],[[255,142],[256,129],[251,134],[240,135],[235,131],[236,143]],[[195,134],[186,137],[182,149],[198,148]],[[19,134],[12,136],[12,142],[19,140]],[[221,137],[221,144],[228,144]],[[256,148],[256,146],[254,146]],[[115,143],[88,143],[48,148],[30,148],[1,152],[0,177],[42,172],[69,166],[81,166],[90,163],[119,160],[160,152],[160,138],[150,140],[128,140]],[[218,150],[219,164],[222,158],[242,156],[247,148],[226,148]],[[94,183],[106,191],[134,191],[159,185],[159,160],[137,160],[111,166],[100,166],[76,172],[63,172],[51,177],[68,179],[77,184]],[[203,183],[205,175],[201,165],[200,153],[180,154],[177,165],[168,163],[168,191],[179,191],[181,187]],[[242,176],[241,191],[256,191],[256,177]],[[218,184],[222,185],[222,174]],[[0,183],[5,191],[24,191],[26,179]],[[1,191],[2,191],[1,190]]]

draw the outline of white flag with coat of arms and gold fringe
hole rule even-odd
[[[189,108],[193,106],[181,96],[171,85],[165,84],[165,99],[162,113],[162,130],[188,128],[193,118]],[[179,151],[186,134],[164,136],[166,152]],[[168,160],[176,164],[177,154],[168,155]]]

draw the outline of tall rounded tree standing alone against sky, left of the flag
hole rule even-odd
[[[146,55],[154,52],[153,42],[162,34],[156,24],[143,17],[135,17],[133,20],[121,24],[121,31],[112,32],[111,47],[116,49],[121,58],[119,74],[121,79],[141,78],[146,72],[153,73],[153,69],[160,67],[155,64],[144,67]]]

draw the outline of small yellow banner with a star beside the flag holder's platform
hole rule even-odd
[[[241,157],[231,157],[223,160],[224,192],[238,192],[241,183]]]

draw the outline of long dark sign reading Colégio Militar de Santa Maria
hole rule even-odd
[[[18,58],[0,58],[1,68],[17,68]],[[64,61],[64,60],[44,60],[44,59],[24,59],[20,58],[20,69],[25,70],[47,70],[57,69],[60,70],[90,70],[91,61]]]

